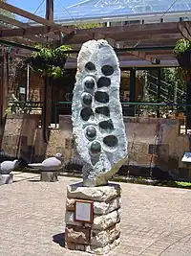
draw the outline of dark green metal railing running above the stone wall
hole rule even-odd
[[[187,107],[174,103],[121,103],[124,116],[180,118],[182,126],[186,129]],[[41,102],[10,102],[9,109],[12,114],[41,114],[43,103]],[[72,102],[53,103],[52,124],[58,124],[59,115],[71,115]],[[8,111],[9,112],[9,111]],[[185,133],[187,129],[185,130]]]

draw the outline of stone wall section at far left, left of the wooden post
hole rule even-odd
[[[22,156],[28,161],[42,160],[46,154],[41,115],[11,115],[6,120],[1,149],[12,156]]]

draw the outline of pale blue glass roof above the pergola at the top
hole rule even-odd
[[[56,20],[83,20],[113,16],[131,17],[147,13],[191,12],[191,0],[86,0],[64,7],[62,0],[55,1],[54,19]],[[173,4],[174,3],[174,4]]]

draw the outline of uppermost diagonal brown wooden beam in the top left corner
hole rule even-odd
[[[3,10],[6,10],[8,12],[16,13],[20,16],[26,17],[26,18],[31,19],[31,20],[39,23],[39,24],[43,24],[43,25],[48,26],[48,27],[55,25],[55,23],[51,20],[47,20],[45,18],[39,17],[35,14],[32,14],[31,12],[27,12],[27,11],[22,10],[20,8],[14,7],[14,6],[12,6],[10,4],[7,4],[3,1],[0,1],[0,8],[3,9]]]

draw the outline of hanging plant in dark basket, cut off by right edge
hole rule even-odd
[[[181,38],[174,49],[175,57],[183,69],[191,69],[191,41]]]

